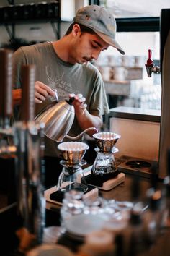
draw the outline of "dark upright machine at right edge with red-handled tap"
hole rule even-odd
[[[164,179],[167,175],[167,152],[170,148],[170,114],[167,111],[169,106],[169,46],[170,46],[170,9],[161,9],[160,15],[160,67],[155,67],[151,59],[151,50],[148,50],[148,60],[146,71],[148,77],[152,73],[161,72],[161,130],[159,137],[159,155],[158,155],[158,178]]]

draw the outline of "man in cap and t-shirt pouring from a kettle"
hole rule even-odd
[[[113,46],[125,54],[115,40],[116,23],[112,14],[97,5],[78,10],[66,35],[54,42],[19,48],[14,53],[14,85],[20,84],[22,64],[35,64],[35,115],[51,103],[54,89],[58,100],[74,97],[75,119],[68,135],[88,128],[102,127],[102,116],[109,113],[104,83],[91,61]],[[18,102],[19,90],[13,91]],[[89,131],[92,135],[94,131]],[[45,137],[45,155],[58,155],[57,143]]]

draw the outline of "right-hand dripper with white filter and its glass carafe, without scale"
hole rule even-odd
[[[115,148],[117,140],[120,135],[114,132],[99,132],[93,135],[96,140],[97,157],[91,169],[91,173],[95,175],[99,174],[113,174],[117,171],[117,164],[115,162],[114,153],[118,151]]]

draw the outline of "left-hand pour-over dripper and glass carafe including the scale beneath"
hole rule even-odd
[[[63,169],[58,184],[48,189],[47,200],[62,204],[64,193],[68,190],[76,190],[82,193],[83,197],[97,197],[98,189],[86,183],[84,171],[81,168],[86,164],[83,157],[89,145],[84,142],[62,142],[58,145],[58,149],[61,151],[60,163]]]

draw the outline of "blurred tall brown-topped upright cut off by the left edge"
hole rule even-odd
[[[14,250],[14,226],[16,192],[14,175],[15,147],[9,145],[12,137],[12,51],[0,49],[0,191],[4,197],[0,213],[1,255],[12,255]],[[13,150],[13,151],[12,151]],[[6,246],[7,244],[7,246]]]

